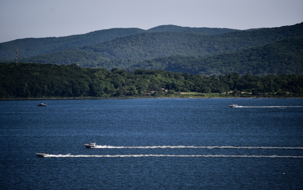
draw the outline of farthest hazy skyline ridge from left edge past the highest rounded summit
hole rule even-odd
[[[179,31],[184,33],[193,32],[203,35],[214,35],[236,30],[226,28],[190,28],[165,25],[151,28],[149,30],[143,30],[139,28],[112,28],[89,32],[87,34],[71,35],[65,37],[24,38],[0,43],[0,61],[14,60],[16,48],[18,48],[18,57],[25,58],[46,53],[59,52],[73,47],[82,47],[85,45],[102,43],[123,36],[159,31]]]

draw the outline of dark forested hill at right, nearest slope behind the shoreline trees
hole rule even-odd
[[[209,57],[159,57],[140,62],[132,68],[164,69],[209,76],[225,73],[256,76],[303,75],[303,37],[287,38],[264,46]]]

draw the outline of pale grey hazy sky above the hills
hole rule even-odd
[[[159,25],[271,28],[303,22],[303,0],[0,0],[0,42]]]

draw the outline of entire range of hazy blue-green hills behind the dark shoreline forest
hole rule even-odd
[[[233,30],[165,25],[0,43],[0,62],[165,70],[200,75],[302,75],[303,23]],[[10,58],[11,57],[11,58]]]

